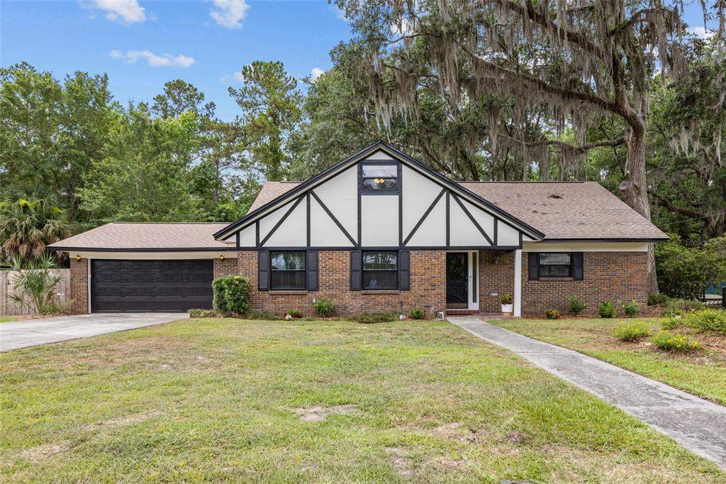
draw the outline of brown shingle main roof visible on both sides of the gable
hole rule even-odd
[[[544,233],[544,239],[667,238],[597,182],[459,182]],[[266,182],[250,211],[298,182]]]

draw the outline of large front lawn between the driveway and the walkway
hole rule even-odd
[[[3,482],[726,483],[444,322],[184,320],[7,352],[0,379]]]

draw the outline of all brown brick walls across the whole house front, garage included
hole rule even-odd
[[[313,299],[316,297],[335,299],[340,314],[409,312],[418,304],[431,315],[446,307],[446,251],[411,251],[410,291],[351,291],[348,251],[319,251],[318,259],[318,291],[257,291],[256,251],[240,251],[237,258],[214,259],[214,277],[245,275],[253,287],[250,310],[276,314],[295,308],[306,315],[314,315]],[[499,312],[499,296],[507,292],[514,294],[514,259],[514,251],[479,251],[481,312]],[[523,252],[523,315],[541,317],[550,307],[566,313],[573,295],[587,304],[588,315],[595,315],[597,305],[604,299],[610,299],[613,304],[630,299],[642,306],[647,302],[646,252],[584,252],[582,281],[528,281],[527,259],[527,252]],[[70,259],[70,297],[74,299],[74,312],[88,312],[87,259]]]

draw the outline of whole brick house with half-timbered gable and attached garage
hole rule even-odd
[[[452,182],[376,142],[302,183],[268,182],[231,224],[112,223],[49,249],[70,254],[78,312],[210,307],[241,274],[250,309],[589,312],[647,298],[648,244],[667,237],[596,182]]]

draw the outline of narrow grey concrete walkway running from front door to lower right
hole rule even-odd
[[[726,469],[726,407],[609,363],[513,333],[478,318],[448,318],[540,368],[592,392]],[[724,376],[726,378],[726,376]]]

